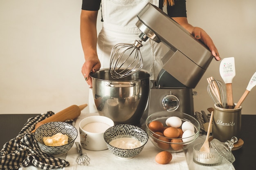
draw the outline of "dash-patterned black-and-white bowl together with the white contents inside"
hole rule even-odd
[[[148,134],[130,124],[119,124],[108,128],[104,133],[108,149],[120,159],[137,156],[148,141]]]

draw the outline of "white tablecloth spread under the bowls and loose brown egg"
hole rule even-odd
[[[93,116],[97,114],[81,114],[76,120],[75,127],[79,130],[79,122],[87,116]],[[76,141],[79,141],[78,136]],[[206,167],[200,166],[193,162],[193,145],[195,143],[204,142],[205,136],[199,136],[196,141],[190,144],[184,152],[173,153],[173,159],[166,165],[156,163],[155,156],[161,150],[158,150],[150,140],[146,143],[144,149],[136,157],[132,159],[120,159],[112,154],[109,150],[103,151],[90,151],[83,149],[88,157],[90,157],[89,166],[80,166],[76,163],[76,157],[78,155],[76,145],[74,145],[65,155],[59,156],[66,161],[69,161],[70,166],[63,168],[63,170],[109,170],[109,169],[122,169],[122,170],[157,170],[157,169],[171,169],[171,170],[234,170],[234,166],[228,163],[222,163],[219,166]],[[186,153],[186,154],[185,154]],[[28,166],[20,168],[20,170],[39,170],[34,166]]]

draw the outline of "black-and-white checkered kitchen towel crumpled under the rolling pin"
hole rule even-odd
[[[18,169],[28,166],[29,163],[44,170],[69,166],[69,162],[42,152],[36,142],[34,133],[30,133],[34,130],[36,123],[53,114],[54,112],[49,111],[46,114],[30,118],[17,137],[4,144],[0,151],[1,169]]]

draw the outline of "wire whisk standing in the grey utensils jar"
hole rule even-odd
[[[213,102],[221,108],[226,108],[226,88],[224,83],[221,81],[218,81],[214,79],[213,77],[207,78],[208,86],[207,86],[207,92],[211,96],[211,99]]]

